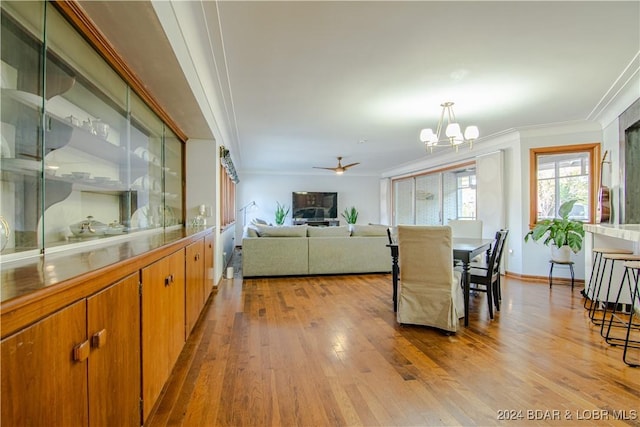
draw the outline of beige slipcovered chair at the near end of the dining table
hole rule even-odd
[[[449,226],[398,226],[397,320],[456,332],[464,317],[461,274],[453,270]]]

